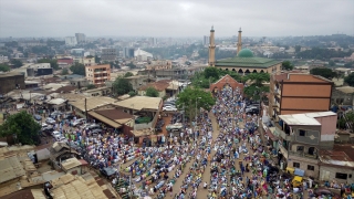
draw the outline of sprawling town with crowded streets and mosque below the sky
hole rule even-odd
[[[353,36],[217,34],[2,39],[0,198],[352,198]]]

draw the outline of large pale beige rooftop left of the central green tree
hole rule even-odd
[[[116,102],[114,104],[121,107],[131,108],[135,111],[159,111],[159,105],[162,101],[163,100],[160,97],[135,96],[124,101]]]

